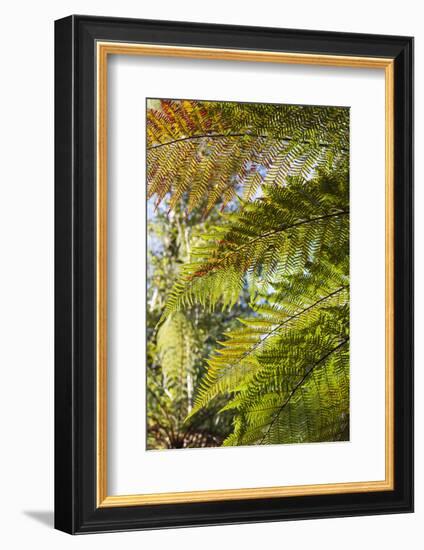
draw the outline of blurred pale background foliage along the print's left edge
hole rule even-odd
[[[151,210],[150,205],[148,206]],[[196,388],[204,374],[204,359],[213,349],[231,316],[209,315],[194,306],[169,316],[160,327],[165,298],[179,265],[187,261],[194,227],[206,227],[200,216],[185,219],[180,209],[166,215],[158,210],[148,224],[147,272],[147,448],[221,445],[231,431],[231,412],[218,415],[225,404],[214,402],[186,421]],[[242,307],[235,308],[238,314]]]

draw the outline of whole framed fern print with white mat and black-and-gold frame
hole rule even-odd
[[[55,26],[55,525],[413,509],[413,39]]]

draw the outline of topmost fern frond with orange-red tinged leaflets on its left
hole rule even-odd
[[[217,203],[230,205],[239,193],[251,200],[262,184],[307,178],[347,158],[346,109],[322,108],[317,115],[293,105],[160,105],[147,116],[148,197],[155,196],[157,205],[168,197],[171,209],[188,194],[188,211],[202,205],[207,213]]]

